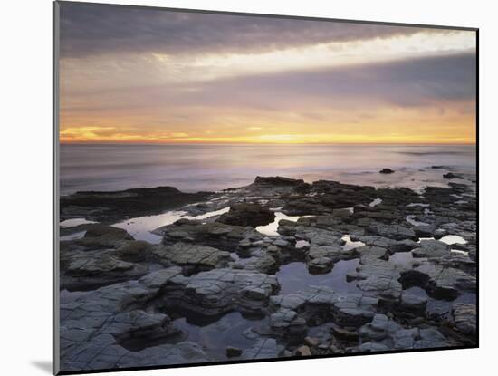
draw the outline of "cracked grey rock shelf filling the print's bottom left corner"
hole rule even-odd
[[[177,280],[178,277],[180,280]],[[111,284],[83,294],[71,303],[61,304],[62,370],[113,368],[123,361],[123,356],[134,358],[136,354],[150,357],[147,364],[154,365],[207,361],[206,354],[193,343],[161,345],[139,352],[130,352],[121,345],[121,342],[132,338],[177,333],[174,327],[169,326],[166,315],[129,308],[144,304],[158,294],[159,288],[170,281],[183,281],[183,278],[179,268],[164,269],[139,281]],[[162,353],[162,358],[159,359],[158,353]],[[134,365],[142,363],[146,362]]]

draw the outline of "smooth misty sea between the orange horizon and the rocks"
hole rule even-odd
[[[186,192],[250,184],[260,176],[421,188],[441,169],[475,172],[472,145],[62,145],[61,192],[172,186]],[[395,169],[390,175],[382,168]]]

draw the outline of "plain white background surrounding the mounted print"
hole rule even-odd
[[[498,249],[491,242],[496,228],[493,216],[496,199],[493,196],[494,184],[497,183],[494,167],[498,161],[493,151],[498,125],[495,98],[498,35],[497,13],[492,1],[125,0],[120,3],[449,24],[479,27],[481,30],[480,349],[125,374],[225,376],[236,372],[244,376],[254,373],[356,375],[364,372],[407,376],[444,372],[453,376],[493,372],[498,364],[495,318]],[[47,375],[52,352],[52,5],[50,0],[10,0],[2,2],[0,9],[0,372],[5,375]]]

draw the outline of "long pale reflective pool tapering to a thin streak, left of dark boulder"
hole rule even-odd
[[[133,236],[135,240],[145,240],[149,243],[160,243],[162,236],[152,234],[150,231],[158,227],[168,226],[177,222],[178,219],[194,219],[201,220],[210,217],[220,216],[230,210],[230,207],[210,211],[200,216],[187,216],[186,211],[167,211],[166,213],[159,214],[158,216],[146,216],[127,219],[125,221],[112,225],[113,227],[122,228],[128,231],[129,235]]]

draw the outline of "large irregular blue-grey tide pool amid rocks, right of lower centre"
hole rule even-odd
[[[359,259],[342,260],[334,264],[332,271],[324,275],[311,275],[302,262],[294,262],[280,267],[275,274],[281,290],[279,294],[292,294],[311,285],[327,286],[340,294],[360,293],[354,282],[346,281],[346,275],[356,270]]]

